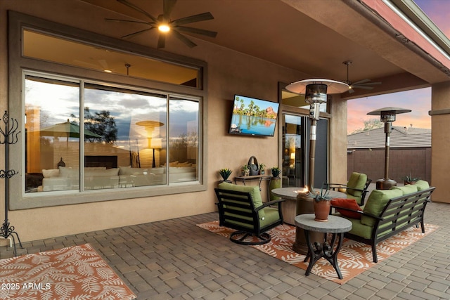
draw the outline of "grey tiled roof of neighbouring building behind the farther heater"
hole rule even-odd
[[[347,149],[385,148],[384,127],[349,134]],[[431,147],[431,129],[392,126],[390,148]]]

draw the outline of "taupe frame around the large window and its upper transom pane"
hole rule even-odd
[[[207,190],[205,136],[207,120],[207,63],[184,56],[174,55],[157,51],[153,48],[144,47],[105,37],[101,34],[79,30],[74,27],[51,22],[31,15],[24,15],[14,11],[8,11],[8,110],[11,117],[18,120],[20,124],[19,141],[10,145],[9,164],[11,169],[20,170],[20,176],[10,179],[10,209],[30,209],[34,207],[52,207],[69,204],[80,204],[89,202],[101,202],[109,200],[126,200],[139,197],[154,197],[158,195],[172,195],[179,193],[193,193]],[[83,43],[96,46],[113,48],[115,51],[125,51],[139,56],[153,59],[165,60],[170,63],[198,67],[200,70],[199,88],[190,86],[179,86],[167,84],[160,81],[148,79],[130,78],[120,74],[108,74],[95,70],[83,69],[51,63],[22,56],[22,32],[23,28],[53,34],[64,39],[73,39]],[[37,72],[37,74],[53,74],[63,77],[81,79],[89,82],[101,82],[111,86],[122,86],[129,89],[143,89],[145,91],[157,91],[167,93],[169,96],[192,97],[199,99],[199,155],[198,155],[198,181],[186,183],[171,183],[170,185],[153,185],[135,188],[113,188],[107,190],[90,190],[84,193],[51,192],[42,196],[30,197],[25,194],[25,72]],[[18,151],[20,149],[20,151]],[[41,194],[41,193],[35,193]]]

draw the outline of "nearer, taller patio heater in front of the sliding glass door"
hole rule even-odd
[[[348,91],[349,85],[341,81],[330,79],[305,79],[297,81],[286,86],[288,91],[293,93],[304,94],[304,102],[309,104],[309,119],[311,119],[311,127],[309,134],[309,165],[307,185],[304,190],[297,193],[297,211],[296,214],[314,213],[313,198],[309,195],[309,191],[314,193],[314,168],[316,161],[316,126],[319,120],[320,105],[326,103],[328,93],[344,93]],[[314,233],[310,240],[323,241],[323,233]],[[300,254],[307,254],[308,247],[304,230],[295,226],[295,243],[293,250]]]

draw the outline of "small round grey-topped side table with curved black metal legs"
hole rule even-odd
[[[338,278],[342,279],[342,273],[338,266],[338,253],[342,247],[344,233],[352,230],[352,222],[333,215],[328,216],[328,222],[314,221],[314,218],[314,214],[301,214],[295,217],[295,225],[304,230],[307,240],[308,253],[304,261],[309,259],[309,265],[305,275],[308,276],[314,263],[323,257],[335,268]],[[311,231],[325,233],[323,242],[316,241],[313,244],[309,238]]]

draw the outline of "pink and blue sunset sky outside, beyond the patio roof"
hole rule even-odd
[[[450,37],[450,1],[415,0],[415,2],[437,27]],[[431,89],[426,88],[349,100],[347,133],[363,128],[364,120],[375,117],[367,115],[368,112],[390,106],[412,110],[409,113],[397,115],[394,126],[411,126],[412,124],[416,128],[431,128],[431,117],[428,115],[428,111],[431,110]]]

